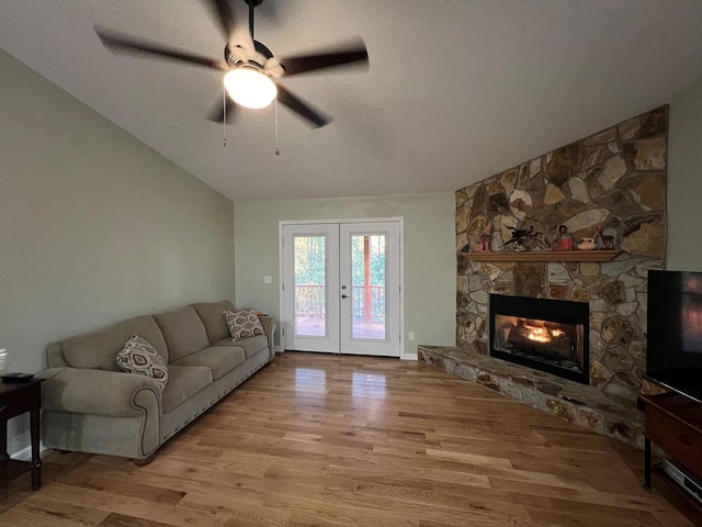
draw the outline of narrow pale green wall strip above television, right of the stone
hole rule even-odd
[[[670,101],[667,269],[702,271],[702,78]]]

